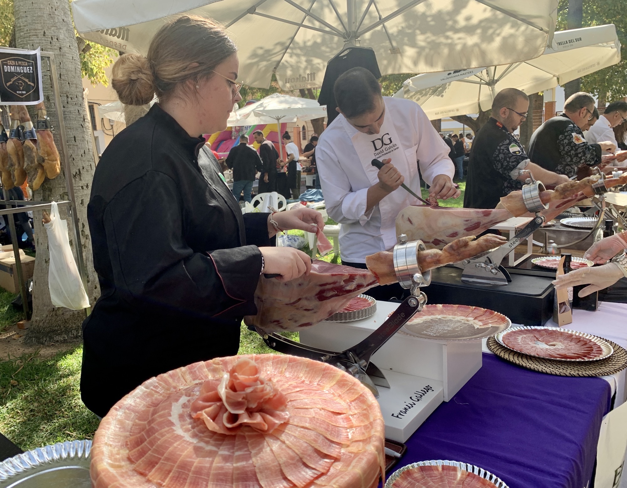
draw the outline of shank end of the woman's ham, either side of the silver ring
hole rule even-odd
[[[424,273],[448,263],[458,263],[473,258],[506,242],[507,238],[495,234],[487,234],[477,240],[475,240],[475,236],[467,236],[447,244],[442,250],[418,251],[418,264]],[[382,251],[366,256],[366,266],[375,275],[379,285],[398,282],[394,272],[394,254],[392,252]]]

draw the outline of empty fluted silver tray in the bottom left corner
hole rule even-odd
[[[38,447],[0,462],[0,488],[92,488],[92,441]]]

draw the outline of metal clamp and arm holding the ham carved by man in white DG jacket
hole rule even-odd
[[[510,273],[501,265],[505,256],[512,252],[522,241],[530,238],[533,233],[544,224],[544,215],[540,215],[542,210],[547,209],[548,204],[542,203],[540,193],[545,190],[541,181],[535,181],[534,176],[528,169],[520,170],[520,174],[529,173],[529,178],[525,180],[522,187],[522,200],[527,210],[535,213],[534,220],[530,221],[519,233],[502,246],[490,250],[483,255],[478,255],[472,259],[463,260],[455,266],[462,268],[461,281],[469,285],[500,286],[507,285],[512,281]]]

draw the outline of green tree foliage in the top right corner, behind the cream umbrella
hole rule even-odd
[[[583,0],[583,27],[614,24],[616,33],[622,46],[627,45],[627,4],[624,0]],[[560,0],[557,11],[557,28],[567,28],[568,0]],[[621,60],[614,66],[609,66],[596,73],[591,73],[581,78],[581,89],[600,95],[608,100],[616,100],[627,96],[627,60]]]

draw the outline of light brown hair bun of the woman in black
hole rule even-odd
[[[145,56],[125,54],[115,61],[111,86],[125,105],[145,105],[155,94],[150,64]]]

